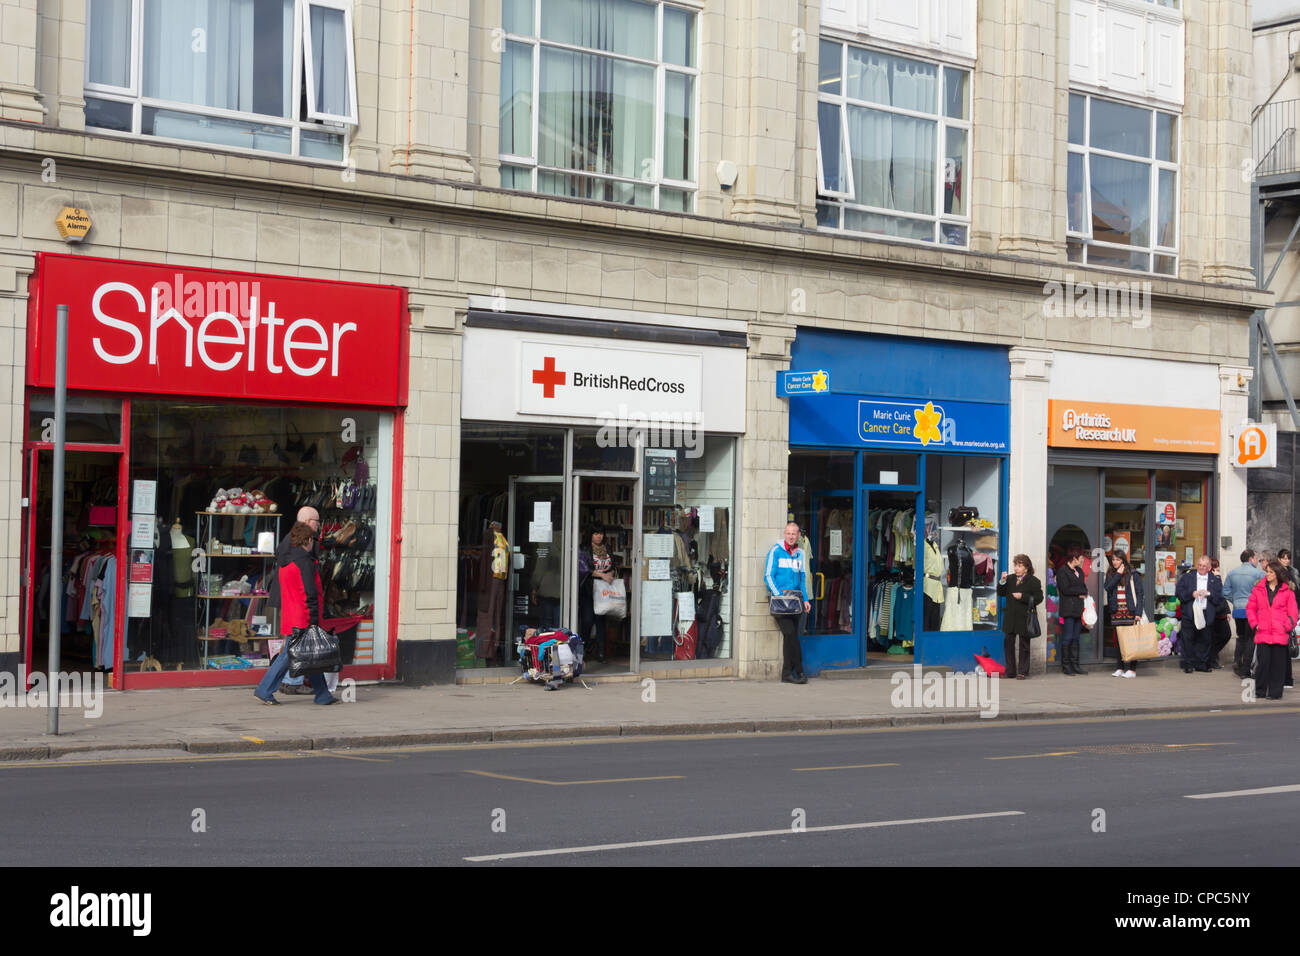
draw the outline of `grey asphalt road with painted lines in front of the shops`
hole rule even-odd
[[[8,763],[0,865],[1292,865],[1297,737],[1275,713]]]

